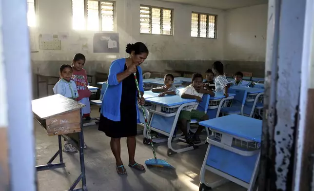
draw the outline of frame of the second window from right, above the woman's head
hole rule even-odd
[[[150,32],[151,33],[141,33],[140,32],[140,7],[149,7],[149,19],[150,19],[150,23],[149,23],[149,27],[150,27]],[[156,9],[160,9],[160,34],[152,34],[152,8],[156,8]],[[167,34],[162,34],[162,16],[163,16],[163,12],[162,10],[166,9],[166,10],[170,10],[171,11],[171,30],[170,30],[170,35]],[[174,36],[174,9],[172,8],[165,8],[165,7],[157,7],[157,6],[151,6],[151,5],[143,5],[140,4],[139,5],[139,34],[141,35],[163,35],[163,36]]]

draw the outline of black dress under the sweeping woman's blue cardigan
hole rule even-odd
[[[124,70],[127,67],[124,65]],[[138,80],[137,71],[137,80]],[[122,80],[120,121],[112,121],[100,114],[98,130],[112,138],[137,135],[137,87],[133,74]],[[106,92],[106,94],[110,92]],[[106,107],[106,106],[104,106]]]

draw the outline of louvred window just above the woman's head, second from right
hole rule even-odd
[[[172,35],[172,9],[141,5],[140,33]]]

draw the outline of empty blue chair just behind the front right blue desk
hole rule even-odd
[[[243,115],[243,108],[244,108],[244,104],[246,100],[247,91],[229,89],[228,93],[236,94],[236,96],[234,96],[234,99],[232,101],[232,106],[221,108],[220,112],[223,115],[232,115],[232,114]]]

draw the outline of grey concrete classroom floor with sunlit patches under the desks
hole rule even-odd
[[[92,116],[98,115],[98,110],[94,108]],[[58,150],[58,137],[47,136],[36,121],[34,124],[37,164],[45,164]],[[89,126],[84,127],[84,139],[88,146],[84,150],[84,155],[89,191],[198,191],[199,172],[207,145],[193,151],[167,156],[166,144],[157,144],[157,157],[165,159],[176,168],[175,170],[146,168],[146,172],[138,172],[126,166],[128,174],[118,175],[109,145],[110,138],[99,132],[97,126]],[[137,135],[136,160],[140,164],[153,157],[150,146],[143,145],[142,139],[142,135]],[[39,191],[65,191],[77,178],[80,173],[78,153],[63,153],[63,158],[66,165],[64,169],[38,172]],[[125,138],[121,139],[121,158],[127,165],[128,152]],[[218,179],[215,174],[206,172],[207,182]],[[213,191],[245,190],[229,182]]]

